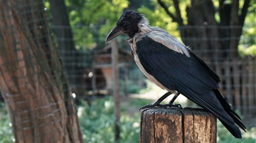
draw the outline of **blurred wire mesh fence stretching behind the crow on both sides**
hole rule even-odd
[[[60,28],[60,27],[58,27]],[[73,31],[79,31],[81,26],[73,27]],[[180,27],[193,31],[203,29],[221,30],[230,32],[231,29],[242,28],[241,26],[184,26]],[[75,30],[74,30],[75,29]],[[252,39],[254,37],[251,37]],[[190,43],[189,46],[198,54],[214,71],[221,77],[220,90],[225,96],[228,103],[232,105],[233,109],[239,110],[245,117],[244,122],[248,126],[255,126],[255,109],[256,109],[256,78],[255,66],[256,61],[254,56],[241,56],[237,49],[230,49],[227,44],[231,40],[238,40],[239,37],[185,37],[182,38],[184,43]],[[65,40],[65,39],[61,39]],[[74,39],[74,41],[79,41]],[[202,44],[202,41],[205,43]],[[130,48],[123,46],[123,41],[119,41],[119,54],[122,59],[120,62],[120,88],[121,94],[125,94],[125,88],[129,94],[138,93],[139,90],[146,88],[146,77],[136,66],[130,54]],[[193,46],[194,45],[194,46]],[[211,47],[211,48],[207,48]],[[70,52],[62,50],[60,52]],[[83,65],[83,73],[71,74],[69,77],[84,78],[83,84],[73,84],[73,87],[84,88],[82,93],[75,92],[79,96],[95,97],[92,95],[108,94],[111,95],[112,78],[111,78],[111,45],[100,45],[93,50],[80,50],[80,56],[71,57],[71,59],[78,58],[79,62],[73,63]],[[231,55],[231,53],[236,53]],[[66,57],[70,58],[70,57]],[[125,65],[125,66],[124,66]],[[125,73],[128,69],[128,73]],[[73,69],[75,71],[75,69]],[[74,73],[74,72],[72,72]],[[127,83],[125,83],[125,74],[127,74]],[[95,81],[93,81],[95,80]],[[95,85],[93,85],[95,84]],[[127,85],[125,85],[127,84]],[[136,86],[134,86],[136,85]],[[127,87],[125,87],[127,86]],[[94,93],[94,94],[93,94]],[[248,120],[250,119],[250,120]]]

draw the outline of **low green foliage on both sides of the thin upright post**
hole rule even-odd
[[[78,107],[78,117],[84,142],[114,142],[114,112],[113,100],[103,98],[95,100],[91,106],[83,103]],[[130,117],[121,113],[120,142],[138,142],[139,140],[139,115]]]

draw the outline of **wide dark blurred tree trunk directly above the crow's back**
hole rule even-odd
[[[185,33],[182,35],[182,40],[204,60],[216,61],[222,56],[220,53],[222,47],[218,40],[220,38],[219,27],[212,1],[191,1],[191,6],[186,8],[186,13],[188,23],[181,26],[182,33]],[[211,52],[208,52],[209,50]]]

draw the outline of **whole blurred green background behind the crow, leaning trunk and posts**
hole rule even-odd
[[[152,26],[178,38],[219,74],[222,95],[241,115],[248,131],[239,140],[218,122],[218,142],[256,142],[254,1],[57,0],[16,4],[17,8],[33,6],[38,8],[20,13],[46,13],[46,24],[68,78],[84,142],[115,141],[114,90],[118,91],[120,104],[120,142],[139,141],[139,107],[153,103],[165,93],[138,69],[127,36],[120,36],[113,43],[104,42],[125,9],[143,13]],[[33,22],[40,20],[27,22],[33,27]],[[118,49],[118,71],[112,65],[114,48]],[[119,87],[114,84],[115,75]],[[0,99],[0,142],[13,142],[6,108],[10,100],[4,91]],[[183,96],[176,103],[197,106]]]

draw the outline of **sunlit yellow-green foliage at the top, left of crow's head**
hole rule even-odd
[[[93,48],[104,43],[105,37],[116,24],[123,9],[129,6],[127,0],[65,2],[78,48]]]

